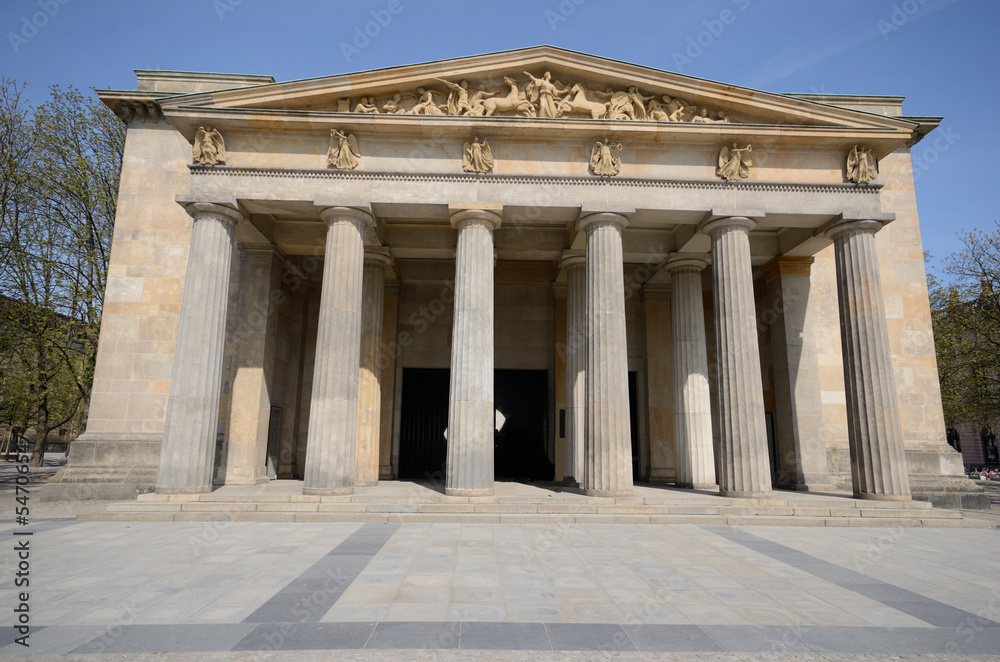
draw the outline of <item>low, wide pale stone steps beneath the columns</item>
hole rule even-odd
[[[388,482],[348,496],[307,496],[299,481],[226,485],[210,494],[141,494],[81,521],[464,522],[480,524],[723,524],[993,528],[923,501],[775,491],[736,499],[637,485],[629,497],[588,497],[555,484],[497,483],[494,496],[451,497],[426,483]]]

